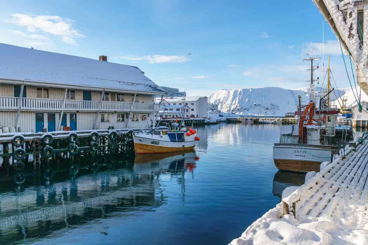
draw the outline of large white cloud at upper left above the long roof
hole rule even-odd
[[[64,43],[78,46],[75,37],[84,37],[79,30],[73,28],[74,21],[56,15],[24,15],[13,14],[8,21],[14,25],[25,27],[26,32],[14,30],[14,34],[31,39],[48,40],[47,35],[60,36]]]

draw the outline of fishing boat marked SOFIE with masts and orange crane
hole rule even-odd
[[[280,143],[274,144],[273,160],[280,170],[293,172],[319,172],[322,162],[332,161],[338,154],[335,128],[339,109],[330,105],[329,68],[328,90],[319,96],[319,106],[315,105],[313,61],[317,58],[307,58],[311,62],[311,84],[309,103],[305,108],[299,106],[295,114],[298,125],[283,125],[280,127]],[[327,100],[325,98],[327,97]],[[300,100],[300,98],[299,98]]]

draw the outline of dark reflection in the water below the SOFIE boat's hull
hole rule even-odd
[[[277,171],[273,177],[272,193],[280,198],[282,192],[289,186],[300,186],[304,184],[305,174]]]

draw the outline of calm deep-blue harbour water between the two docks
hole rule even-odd
[[[227,244],[304,183],[273,164],[279,131],[208,125],[195,151],[51,163],[41,185],[1,168],[0,244]]]

